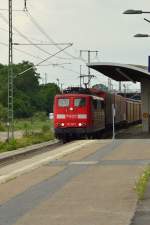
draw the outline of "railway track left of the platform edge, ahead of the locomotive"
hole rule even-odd
[[[44,152],[55,150],[61,145],[63,145],[61,141],[54,140],[52,142],[32,145],[12,152],[2,153],[0,155],[0,168],[20,160],[32,158],[33,156]]]

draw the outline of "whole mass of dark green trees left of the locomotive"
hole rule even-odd
[[[25,70],[25,73],[20,74]],[[46,113],[53,111],[54,96],[60,93],[59,87],[55,83],[40,85],[40,75],[37,73],[33,63],[23,61],[22,63],[14,64],[13,75],[14,116],[16,118],[31,117],[38,111]],[[7,95],[8,66],[0,64],[1,107],[7,107]],[[7,115],[6,112],[5,114]]]

